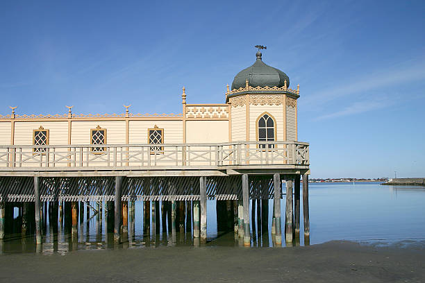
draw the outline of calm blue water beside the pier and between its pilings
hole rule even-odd
[[[285,191],[285,190],[284,190]],[[425,240],[425,187],[382,186],[376,182],[364,183],[315,183],[310,184],[310,244],[331,240],[351,240],[390,244],[399,241]],[[94,204],[93,204],[94,205]],[[282,200],[285,215],[285,200]],[[215,200],[208,200],[208,243],[207,246],[243,246],[233,232],[217,232]],[[256,230],[252,234],[251,246],[274,246],[271,234],[272,200],[269,201],[269,229],[263,235]],[[58,252],[70,250],[137,248],[156,246],[194,246],[192,234],[172,233],[143,234],[142,202],[135,203],[134,235],[124,235],[128,241],[114,246],[113,235],[106,233],[106,217],[101,221],[92,216],[89,221],[78,225],[78,236],[74,239],[64,228],[53,230],[47,223],[44,243],[36,247],[34,237],[7,234],[0,241],[0,254],[10,252]],[[103,209],[103,214],[105,209]],[[250,213],[251,215],[251,213]],[[303,243],[301,196],[301,246]],[[15,209],[17,216],[17,209]],[[18,219],[16,220],[16,222]],[[285,219],[282,219],[285,227]],[[252,221],[251,221],[252,223]],[[129,228],[131,227],[129,223]],[[282,231],[284,237],[284,231]],[[243,239],[242,239],[243,241]],[[285,239],[282,240],[285,246]]]

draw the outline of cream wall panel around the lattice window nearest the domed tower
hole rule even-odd
[[[128,142],[130,144],[148,144],[148,129],[155,125],[164,129],[165,144],[183,144],[183,121],[130,121]],[[125,144],[125,139],[123,144]]]

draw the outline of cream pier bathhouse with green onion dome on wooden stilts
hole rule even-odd
[[[22,232],[34,232],[37,243],[47,210],[59,225],[69,216],[76,234],[84,209],[106,209],[108,230],[121,242],[134,202],[142,201],[147,231],[187,230],[202,243],[206,200],[215,199],[217,222],[224,215],[249,246],[256,207],[257,221],[267,226],[274,199],[274,240],[281,244],[284,220],[285,241],[292,242],[299,237],[303,176],[308,239],[309,145],[298,141],[299,97],[299,85],[290,88],[290,78],[258,51],[223,101],[192,102],[183,87],[177,114],[140,114],[131,105],[122,114],[74,114],[67,105],[63,114],[27,115],[11,107],[0,116],[0,238],[13,207]]]

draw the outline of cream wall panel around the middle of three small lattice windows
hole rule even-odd
[[[90,130],[98,125],[106,129],[106,144],[126,143],[125,121],[72,121],[71,144],[90,144]]]

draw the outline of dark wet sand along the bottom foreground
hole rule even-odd
[[[425,282],[425,243],[1,255],[0,282]]]

